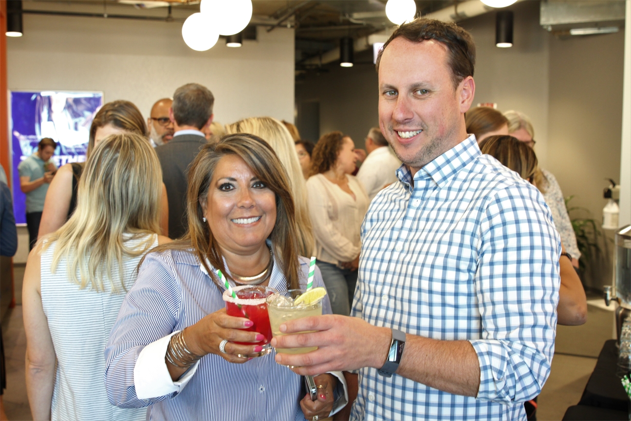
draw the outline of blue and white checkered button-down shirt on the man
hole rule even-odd
[[[468,340],[477,398],[358,371],[351,420],[526,420],[550,374],[560,240],[539,191],[475,136],[370,203],[352,316],[437,340]],[[405,358],[405,352],[403,353]],[[422,356],[420,356],[422,358]]]

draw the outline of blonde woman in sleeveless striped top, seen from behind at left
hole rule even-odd
[[[103,349],[140,259],[160,230],[162,170],[138,134],[91,151],[68,223],[40,239],[23,285],[27,393],[34,420],[144,420],[107,400]]]

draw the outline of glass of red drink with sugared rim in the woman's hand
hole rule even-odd
[[[257,332],[265,336],[259,342],[237,342],[239,345],[261,345],[261,355],[266,355],[271,351],[269,341],[272,340],[272,329],[269,326],[267,297],[272,294],[278,294],[278,291],[270,287],[260,287],[252,285],[241,285],[232,288],[237,297],[232,297],[228,290],[223,292],[223,300],[226,302],[226,313],[228,316],[245,317],[254,323],[251,327],[244,329],[249,332]],[[239,355],[246,357],[247,355]]]

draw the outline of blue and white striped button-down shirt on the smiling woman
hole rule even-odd
[[[309,260],[300,258],[305,284],[308,267]],[[304,420],[298,404],[304,396],[302,377],[276,364],[274,350],[244,364],[205,355],[180,393],[138,399],[134,365],[143,348],[225,307],[223,288],[201,268],[199,259],[186,251],[147,255],[105,348],[110,402],[124,408],[151,405],[147,414],[151,420]],[[269,286],[287,289],[278,264],[274,264]],[[319,270],[314,287],[324,287]],[[323,313],[331,313],[327,297],[322,307]]]

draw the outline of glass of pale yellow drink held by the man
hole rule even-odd
[[[272,329],[272,336],[283,336],[280,332],[280,325],[286,321],[302,319],[302,317],[322,316],[322,299],[310,304],[294,304],[294,300],[305,290],[289,290],[287,292],[279,292],[278,294],[269,295],[267,298],[269,324]],[[298,332],[309,333],[310,331]],[[292,334],[297,335],[297,334]],[[282,353],[307,353],[317,350],[317,347],[305,348],[276,348],[276,352]]]

